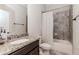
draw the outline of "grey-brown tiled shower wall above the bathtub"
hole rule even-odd
[[[61,8],[63,9],[63,8]],[[60,40],[69,40],[71,41],[71,18],[70,18],[70,8],[54,12],[54,30],[53,38]]]

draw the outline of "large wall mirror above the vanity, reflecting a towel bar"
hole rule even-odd
[[[27,8],[20,4],[0,5],[0,29],[12,35],[27,34]]]

